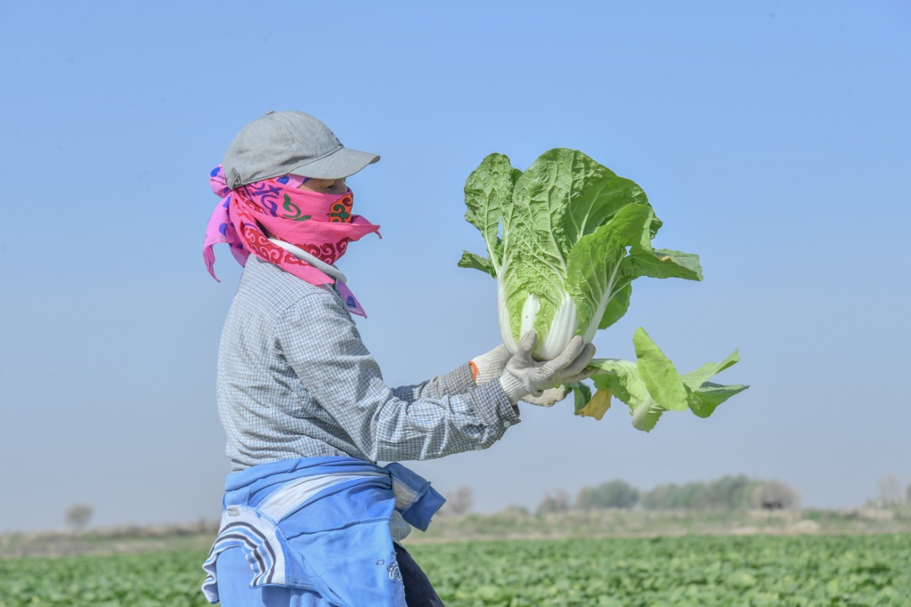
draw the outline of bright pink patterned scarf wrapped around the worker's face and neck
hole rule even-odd
[[[366,316],[363,307],[344,283],[343,274],[334,273],[339,277],[335,280],[330,274],[270,241],[271,236],[288,242],[331,265],[347,251],[349,242],[358,241],[369,233],[380,235],[380,226],[352,214],[354,196],[351,190],[341,195],[301,190],[304,180],[306,178],[284,175],[230,190],[221,166],[213,169],[210,187],[221,197],[221,201],[212,211],[202,245],[206,267],[212,278],[218,281],[212,249],[215,244],[225,242],[241,265],[247,263],[252,253],[306,283],[316,286],[334,284],[348,311]]]

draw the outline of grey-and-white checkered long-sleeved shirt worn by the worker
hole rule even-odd
[[[232,470],[292,458],[441,458],[493,445],[519,421],[469,365],[386,386],[331,288],[250,256],[221,334],[218,403]]]

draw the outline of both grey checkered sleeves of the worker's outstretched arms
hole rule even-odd
[[[468,365],[418,386],[386,386],[332,292],[299,298],[278,317],[273,335],[306,396],[367,458],[430,459],[487,448],[519,421],[499,382],[474,386]]]

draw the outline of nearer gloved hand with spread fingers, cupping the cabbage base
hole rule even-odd
[[[534,331],[522,335],[516,354],[509,359],[500,376],[503,391],[514,405],[524,396],[543,396],[544,390],[550,387],[588,377],[585,367],[595,355],[594,345],[585,344],[577,335],[553,360],[536,361],[531,355],[536,343]]]

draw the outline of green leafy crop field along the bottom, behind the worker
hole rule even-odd
[[[448,607],[911,605],[911,535],[409,546]],[[197,550],[0,561],[0,606],[204,605]]]

